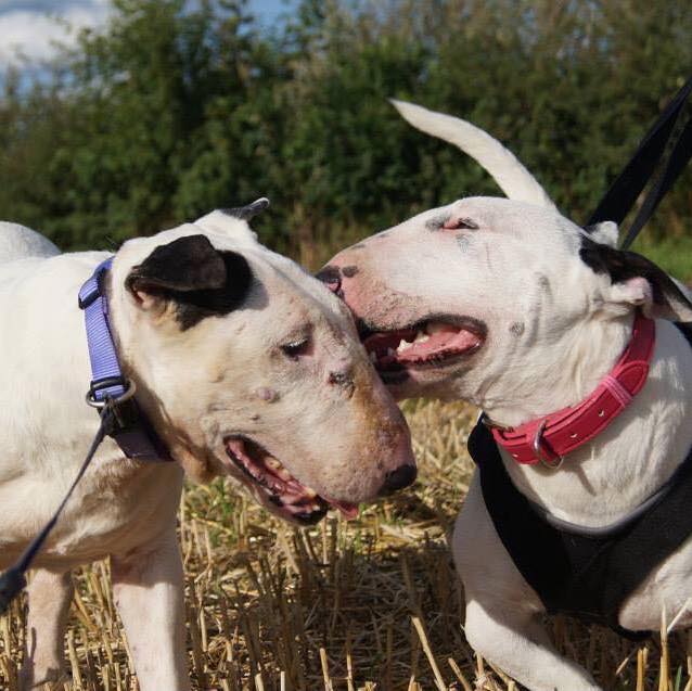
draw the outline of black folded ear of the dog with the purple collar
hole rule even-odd
[[[235,309],[252,279],[245,257],[219,252],[206,235],[188,235],[156,247],[132,268],[126,287],[175,302],[176,320],[185,331]]]

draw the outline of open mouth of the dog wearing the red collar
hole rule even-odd
[[[470,317],[435,317],[402,329],[361,332],[370,360],[385,379],[407,370],[439,368],[475,353],[485,342],[485,324]]]

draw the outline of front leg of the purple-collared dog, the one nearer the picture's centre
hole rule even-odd
[[[190,691],[183,574],[175,528],[111,558],[113,592],[141,691]]]

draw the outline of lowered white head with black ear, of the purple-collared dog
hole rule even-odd
[[[174,459],[319,520],[415,476],[409,432],[347,308],[246,219],[217,210],[128,241],[107,285],[124,372]]]

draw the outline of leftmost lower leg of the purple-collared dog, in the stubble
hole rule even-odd
[[[74,592],[72,573],[35,571],[27,587],[29,613],[26,623],[22,691],[60,681],[64,674],[64,637]]]

